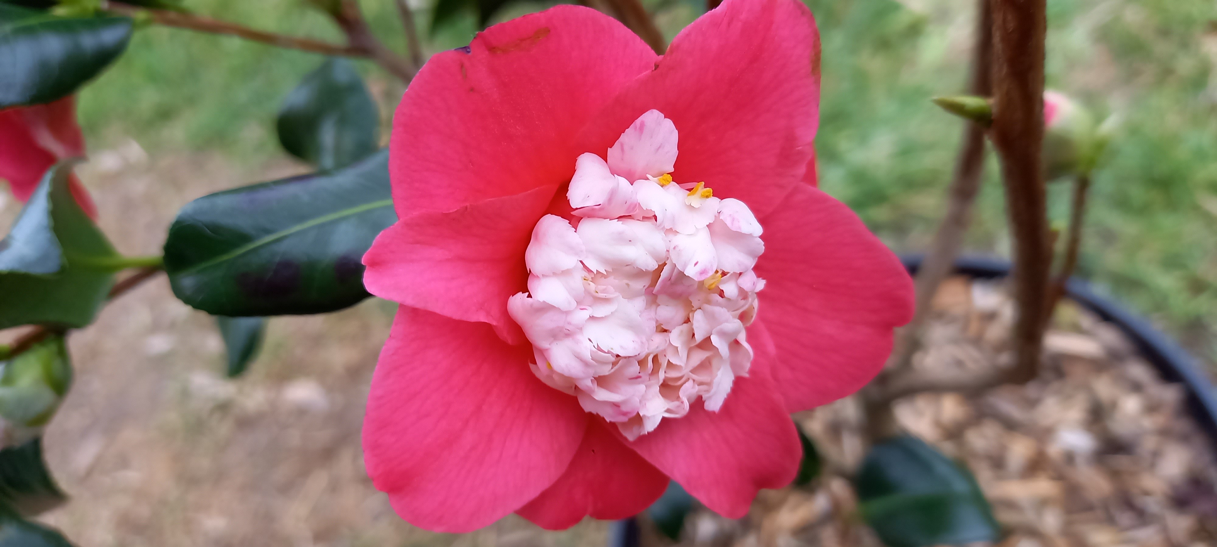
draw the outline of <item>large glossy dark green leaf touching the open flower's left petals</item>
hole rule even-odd
[[[186,204],[169,227],[173,293],[212,315],[323,314],[368,297],[361,263],[397,221],[388,152]]]

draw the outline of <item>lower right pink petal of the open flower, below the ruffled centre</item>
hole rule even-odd
[[[756,362],[747,377],[735,378],[718,412],[695,404],[627,446],[733,519],[748,512],[758,490],[790,484],[803,453],[773,380]]]

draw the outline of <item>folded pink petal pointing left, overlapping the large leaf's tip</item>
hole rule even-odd
[[[525,249],[556,186],[486,199],[450,213],[398,220],[364,255],[364,286],[377,297],[461,321],[481,321],[523,343],[507,299],[525,291]]]

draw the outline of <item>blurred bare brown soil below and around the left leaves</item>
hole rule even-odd
[[[150,162],[128,143],[94,152],[79,173],[101,227],[135,255],[159,253],[190,199],[304,170],[240,169],[212,156]],[[18,208],[0,203],[0,226]],[[458,536],[393,513],[365,474],[359,440],[392,314],[369,299],[275,317],[262,355],[229,380],[212,318],[176,300],[163,276],[123,295],[69,337],[75,382],[45,444],[72,500],[40,520],[82,547],[604,545],[605,523],[546,532],[512,515]]]

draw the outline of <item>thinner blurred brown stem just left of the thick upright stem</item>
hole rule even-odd
[[[968,92],[987,97],[993,90],[991,63],[993,58],[993,17],[989,0],[977,0],[976,43],[972,46]],[[908,366],[918,349],[918,340],[930,315],[930,304],[938,292],[942,280],[954,269],[955,255],[964,232],[971,224],[972,203],[981,187],[985,171],[985,128],[965,122],[964,139],[955,159],[955,171],[947,191],[947,214],[938,224],[930,252],[921,260],[916,274],[916,311],[913,320],[896,335],[894,349],[887,360],[887,371],[899,371]]]

